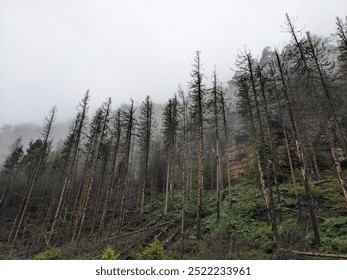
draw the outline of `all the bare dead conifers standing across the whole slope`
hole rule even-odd
[[[281,51],[266,48],[260,61],[249,51],[239,54],[233,84],[249,124],[274,241],[281,221],[278,170],[279,147],[284,146],[299,210],[302,195],[295,170],[301,171],[319,246],[310,191],[310,182],[320,178],[317,143],[329,148],[347,202],[341,166],[347,151],[346,112],[340,105],[346,90],[347,20],[337,19],[333,45],[309,32],[302,35],[289,16],[286,24],[291,41]],[[215,190],[217,221],[221,190],[226,190],[232,207],[230,151],[235,131],[227,91],[216,70],[211,79],[204,76],[200,52],[192,67],[188,94],[179,87],[162,109],[160,121],[149,96],[139,108],[131,100],[113,109],[109,98],[89,119],[87,91],[61,145],[52,149],[55,108],[42,137],[31,141],[26,152],[21,139],[12,145],[1,170],[0,189],[0,218],[7,219],[1,234],[10,250],[22,240],[28,240],[29,247],[42,247],[78,243],[92,234],[120,236],[125,223],[141,224],[150,202],[164,199],[167,213],[178,189],[182,241],[187,200],[196,201],[196,236],[202,236],[204,188]]]

